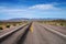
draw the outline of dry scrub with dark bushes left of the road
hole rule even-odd
[[[18,26],[23,23],[26,23],[26,22],[25,21],[23,22],[0,22],[0,30],[10,29],[12,26]]]

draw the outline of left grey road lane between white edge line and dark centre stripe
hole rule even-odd
[[[23,29],[14,32],[12,35],[7,37],[4,41],[2,41],[0,44],[15,44],[16,41],[23,35],[25,30],[29,28],[29,25],[24,26]]]

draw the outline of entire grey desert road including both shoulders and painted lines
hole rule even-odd
[[[0,44],[66,44],[66,28],[33,22],[1,37]]]

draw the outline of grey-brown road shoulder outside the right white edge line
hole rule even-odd
[[[43,24],[43,26],[47,26],[47,28],[51,28],[51,29],[58,31],[63,34],[66,34],[66,26],[56,26],[56,25],[48,25],[48,24],[47,25]]]

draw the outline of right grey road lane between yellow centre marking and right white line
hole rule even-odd
[[[26,38],[21,44],[66,44],[66,40],[62,36],[47,31],[38,23],[33,23],[33,32],[29,31]]]

